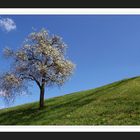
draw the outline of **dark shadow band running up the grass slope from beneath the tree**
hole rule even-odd
[[[34,122],[39,122],[40,120],[46,120],[49,122],[50,120],[53,121],[59,118],[62,119],[66,114],[73,112],[79,107],[87,105],[90,102],[95,101],[96,99],[98,99],[99,96],[103,94],[104,91],[112,91],[118,88],[118,86],[126,84],[127,81],[133,79],[134,78],[122,80],[112,85],[104,86],[101,89],[97,89],[96,91],[91,91],[91,93],[82,96],[80,94],[75,97],[73,96],[71,100],[64,100],[63,102],[58,103],[57,105],[46,106],[42,110],[39,110],[37,104],[35,104],[35,107],[29,106],[27,108],[21,108],[1,113],[0,124],[22,125],[34,124]]]

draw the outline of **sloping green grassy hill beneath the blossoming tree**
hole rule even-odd
[[[140,77],[0,111],[1,125],[138,125]]]

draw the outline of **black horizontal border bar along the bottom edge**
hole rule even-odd
[[[4,140],[19,140],[19,139],[33,139],[33,140],[41,140],[41,139],[51,139],[51,140],[137,140],[140,137],[139,132],[1,132],[1,139]]]

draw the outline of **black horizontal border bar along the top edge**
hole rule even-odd
[[[0,8],[140,8],[138,0],[0,0]]]

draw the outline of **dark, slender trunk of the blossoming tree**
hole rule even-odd
[[[44,107],[44,93],[45,93],[45,87],[44,85],[40,88],[40,102],[39,102],[39,109],[42,109]]]

